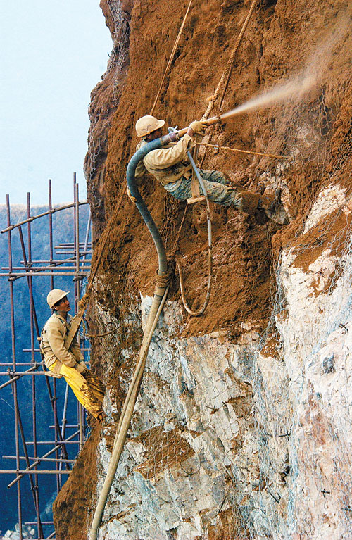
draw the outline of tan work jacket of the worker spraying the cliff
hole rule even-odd
[[[190,175],[191,165],[187,158],[187,149],[191,141],[187,133],[177,141],[177,144],[168,144],[147,153],[143,161],[139,161],[134,177],[138,180],[146,173],[146,170],[159,180],[163,186],[180,180],[182,176]],[[137,144],[137,150],[148,144],[141,141]]]

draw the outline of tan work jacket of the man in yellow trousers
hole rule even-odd
[[[65,320],[58,313],[53,313],[42,329],[41,350],[44,354],[46,367],[49,368],[49,366],[58,360],[54,368],[54,373],[59,373],[63,364],[68,365],[70,368],[75,368],[75,365],[80,360],[84,360],[77,342],[77,337],[74,337],[70,349],[65,348],[65,339],[70,331],[71,320],[72,317],[70,315]]]

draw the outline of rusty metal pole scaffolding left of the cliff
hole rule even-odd
[[[0,389],[11,385],[13,393],[13,422],[15,425],[15,455],[4,455],[4,460],[15,460],[15,467],[12,469],[0,470],[0,474],[13,474],[14,479],[8,484],[8,488],[16,486],[17,488],[17,506],[18,506],[18,528],[19,538],[23,540],[23,527],[34,526],[37,528],[37,539],[55,540],[54,523],[52,521],[42,521],[41,519],[41,501],[40,494],[40,479],[51,475],[54,477],[53,492],[60,491],[65,479],[70,475],[70,467],[75,462],[75,457],[82,448],[84,437],[86,435],[86,424],[84,409],[77,402],[77,420],[68,423],[68,386],[65,387],[65,394],[61,403],[58,401],[57,380],[53,377],[46,377],[46,368],[43,363],[43,358],[38,348],[37,338],[40,336],[41,328],[39,327],[36,310],[36,298],[33,290],[33,278],[41,276],[50,277],[50,289],[54,289],[54,280],[56,277],[71,279],[74,282],[75,296],[75,311],[77,311],[78,302],[82,296],[82,287],[84,278],[87,278],[90,271],[90,263],[92,259],[92,234],[91,234],[91,218],[87,220],[87,229],[84,239],[80,240],[80,206],[86,205],[87,201],[79,201],[79,189],[76,182],[76,175],[73,175],[73,203],[66,204],[61,207],[53,207],[51,199],[51,180],[49,180],[49,197],[48,211],[38,215],[32,215],[30,194],[27,194],[27,218],[15,225],[11,223],[11,206],[9,196],[6,195],[6,211],[7,211],[7,227],[1,230],[2,234],[7,234],[8,239],[8,265],[1,267],[0,276],[8,278],[9,296],[10,296],[10,324],[11,324],[11,346],[12,346],[12,362],[1,361],[0,357],[0,376],[7,377],[8,380],[0,384]],[[68,234],[73,241],[67,241],[63,244],[54,245],[54,228],[53,215],[72,209],[72,227]],[[49,227],[49,258],[45,258],[41,253],[32,253],[32,223],[34,220],[47,219]],[[24,231],[25,229],[25,231]],[[24,237],[26,232],[26,241]],[[23,260],[20,261],[20,266],[13,265],[13,235],[18,234],[20,246],[22,250]],[[54,254],[54,251],[56,253]],[[63,258],[64,256],[64,258]],[[22,354],[19,354],[16,349],[16,328],[15,328],[15,301],[14,287],[15,282],[25,278],[27,281],[27,289],[29,292],[29,309],[28,317],[30,320],[30,335],[28,337],[30,343],[27,349],[22,349]],[[49,289],[48,289],[49,291]],[[84,352],[84,356],[89,351],[89,344],[84,343],[84,337],[78,337],[80,346]],[[30,353],[30,361],[23,360],[23,356]],[[54,432],[51,440],[42,441],[37,433],[38,418],[37,418],[37,385],[40,381],[39,377],[44,377],[46,383],[46,392],[48,406],[51,407],[53,425],[50,425],[51,432]],[[23,425],[23,411],[20,410],[18,400],[18,381],[22,377],[30,377],[31,387],[31,403],[32,403],[32,440],[26,440],[25,432],[28,427]],[[63,384],[60,382],[59,384]],[[50,405],[49,405],[50,403]],[[60,416],[60,418],[59,418]],[[73,432],[68,434],[68,430]],[[28,437],[27,437],[28,438]],[[41,447],[49,446],[49,451],[42,452]],[[22,448],[22,449],[21,449]],[[69,458],[71,456],[71,458]],[[40,467],[44,465],[46,469]],[[51,468],[54,467],[54,468]],[[35,521],[23,520],[23,503],[22,494],[25,486],[21,483],[21,479],[27,477],[30,482],[30,490],[34,503],[34,511],[36,515]],[[51,532],[51,529],[53,532]],[[49,532],[48,532],[49,530]]]

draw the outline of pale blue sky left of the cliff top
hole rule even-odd
[[[113,43],[99,0],[15,0],[0,6],[0,204],[87,197],[90,92]]]

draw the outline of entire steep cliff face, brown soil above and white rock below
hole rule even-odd
[[[193,6],[158,118],[183,127],[201,117],[250,4]],[[291,73],[311,70],[315,85],[213,134],[215,144],[282,158],[212,150],[204,168],[224,170],[246,189],[258,180],[280,187],[290,222],[211,207],[209,306],[190,318],[173,277],[99,540],[352,539],[352,12],[346,1],[323,4],[263,0],[253,12],[223,111]],[[84,469],[96,460],[90,482],[84,471],[96,496],[157,266],[149,232],[124,197],[125,169],[137,144],[134,122],[151,109],[186,6],[106,0],[101,7],[114,49],[92,93],[87,180],[102,258],[89,330],[113,332],[92,342],[108,417],[78,463]],[[174,268],[185,203],[151,177],[141,193]],[[193,309],[205,295],[206,245],[206,214],[193,206],[178,241]],[[80,482],[75,467],[56,500],[58,540],[87,538],[96,498],[82,510]]]

